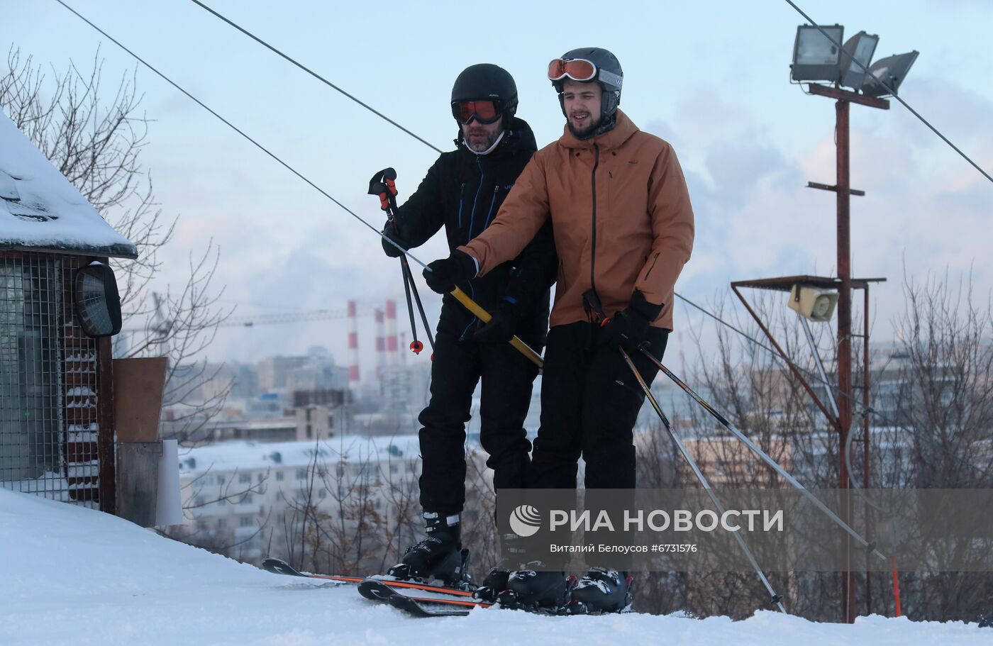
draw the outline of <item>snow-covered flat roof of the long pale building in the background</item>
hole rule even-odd
[[[405,460],[420,454],[416,435],[342,436],[302,442],[221,442],[189,451],[180,449],[180,475],[213,472],[307,466],[314,459],[315,448],[324,464],[343,459],[365,461]]]

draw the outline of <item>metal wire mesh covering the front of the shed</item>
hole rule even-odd
[[[0,486],[96,506],[97,352],[72,320],[77,262],[0,257]]]

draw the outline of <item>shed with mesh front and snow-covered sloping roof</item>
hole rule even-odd
[[[0,486],[114,513],[110,336],[85,330],[108,259],[136,257],[0,112]]]

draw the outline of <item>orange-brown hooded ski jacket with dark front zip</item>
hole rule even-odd
[[[608,316],[637,289],[662,304],[651,324],[672,329],[676,279],[693,248],[693,208],[672,147],[617,111],[593,139],[569,131],[524,167],[497,218],[459,247],[481,276],[515,258],[551,217],[558,280],[551,325],[588,321],[583,294],[595,289]]]

